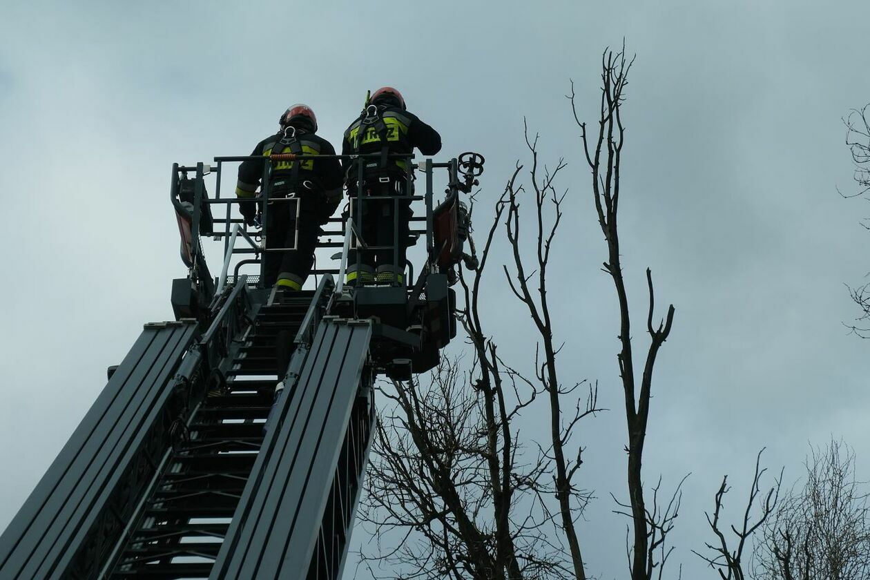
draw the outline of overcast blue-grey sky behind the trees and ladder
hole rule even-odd
[[[566,157],[550,293],[567,342],[561,371],[566,382],[597,379],[612,409],[584,426],[584,484],[599,499],[579,529],[589,571],[626,577],[626,521],[608,495],[626,497],[616,298],[599,270],[606,244],[564,97],[572,78],[580,113],[594,120],[600,53],[625,37],[637,61],[620,235],[639,346],[646,266],[661,308],[676,307],[645,478],[673,487],[693,474],[672,561],[684,578],[713,577],[690,552],[706,534],[703,510],[729,473],[737,517],[762,446],[791,482],[808,442],[844,437],[870,477],[870,343],[843,326],[855,314],[844,283],[870,270],[859,225],[870,208],[835,189],[853,187],[840,117],[870,101],[867,22],[860,0],[4,0],[0,529],[103,388],[106,367],[143,323],[172,318],[171,279],[185,270],[171,163],[247,154],[296,102],[338,145],[365,90],[391,84],[441,132],[439,159],[485,155],[481,206],[525,155],[522,116],[542,157]],[[522,360],[533,350],[518,331],[528,321],[501,314],[519,309],[492,270],[489,327]]]

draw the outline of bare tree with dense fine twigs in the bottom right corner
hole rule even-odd
[[[811,450],[806,482],[783,498],[762,528],[755,552],[760,580],[857,580],[870,577],[870,507],[840,441]]]

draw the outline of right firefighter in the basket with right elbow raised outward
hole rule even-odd
[[[371,95],[371,100],[358,119],[345,131],[342,155],[379,153],[378,157],[364,160],[364,170],[358,179],[358,162],[345,160],[345,177],[351,206],[356,212],[355,198],[358,181],[362,182],[364,196],[412,196],[407,190],[407,171],[410,160],[388,157],[410,154],[414,148],[424,155],[435,155],[441,150],[438,131],[405,109],[405,99],[392,87],[382,87]],[[363,250],[357,264],[355,251],[348,256],[347,282],[404,283],[405,253],[408,248],[409,220],[412,216],[410,201],[398,203],[398,248],[394,251],[394,213],[392,199],[363,201],[361,235],[367,245],[388,246],[386,250]],[[357,223],[360,220],[356,219]]]

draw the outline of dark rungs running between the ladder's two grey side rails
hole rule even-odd
[[[109,577],[209,576],[263,444],[278,381],[276,334],[297,334],[312,297],[266,306],[244,330],[225,383],[212,381],[191,415]]]

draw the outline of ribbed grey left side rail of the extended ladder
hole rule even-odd
[[[171,446],[196,337],[189,321],[145,326],[0,536],[0,578],[97,577]]]

